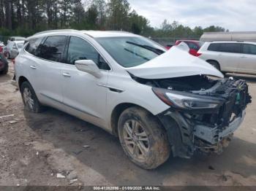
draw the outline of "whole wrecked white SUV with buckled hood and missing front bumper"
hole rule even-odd
[[[126,32],[35,34],[16,58],[15,74],[31,112],[52,106],[104,128],[146,169],[170,153],[221,152],[251,102],[243,80],[223,79],[178,47],[166,51]]]

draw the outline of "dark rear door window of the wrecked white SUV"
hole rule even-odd
[[[40,46],[39,57],[49,61],[61,62],[64,55],[66,36],[49,36]]]

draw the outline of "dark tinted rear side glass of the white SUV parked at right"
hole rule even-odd
[[[212,43],[208,50],[217,52],[241,53],[240,43]]]

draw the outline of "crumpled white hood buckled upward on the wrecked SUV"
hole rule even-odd
[[[144,79],[165,79],[173,77],[187,77],[195,75],[210,75],[224,77],[223,74],[211,64],[190,55],[178,47],[172,47],[156,58],[127,69],[129,73]]]

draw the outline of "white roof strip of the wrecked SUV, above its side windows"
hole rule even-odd
[[[136,34],[132,34],[126,31],[77,31],[72,29],[64,29],[64,30],[53,30],[53,31],[42,31],[33,36],[30,36],[28,39],[34,39],[42,36],[50,36],[54,34],[64,34],[64,35],[75,35],[75,34],[86,34],[91,36],[92,38],[100,38],[100,37],[118,37],[118,36],[138,36]]]

